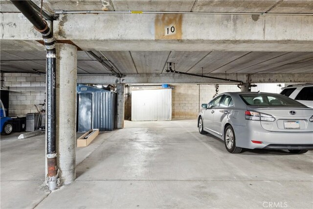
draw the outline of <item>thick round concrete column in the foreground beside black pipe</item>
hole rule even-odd
[[[57,44],[57,165],[61,185],[76,178],[77,47]]]

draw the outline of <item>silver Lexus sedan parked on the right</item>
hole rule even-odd
[[[276,93],[229,92],[202,104],[200,134],[224,139],[230,153],[242,148],[313,149],[313,109]]]

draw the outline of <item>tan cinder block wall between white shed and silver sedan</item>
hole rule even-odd
[[[216,87],[212,84],[171,85],[172,117],[197,117],[201,104],[208,103],[216,94]],[[240,92],[237,85],[219,85],[219,92]]]

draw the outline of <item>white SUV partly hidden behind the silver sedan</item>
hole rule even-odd
[[[282,90],[280,94],[313,108],[313,84],[290,85]]]

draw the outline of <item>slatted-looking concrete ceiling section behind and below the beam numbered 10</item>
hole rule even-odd
[[[1,71],[45,72],[44,51],[0,51]],[[101,54],[95,53],[101,57]],[[123,74],[164,73],[166,63],[190,73],[309,73],[313,52],[102,51]],[[85,51],[77,53],[79,74],[111,74]],[[102,57],[105,59],[104,57]],[[34,70],[33,70],[34,69]]]

